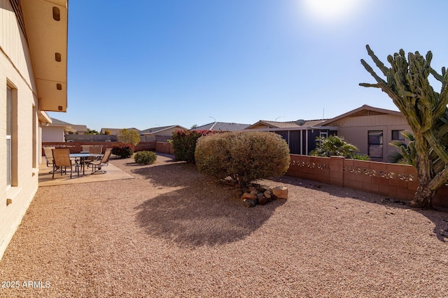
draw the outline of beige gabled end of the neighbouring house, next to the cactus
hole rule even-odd
[[[390,142],[405,140],[402,131],[412,131],[401,112],[363,105],[321,124],[335,126],[338,135],[358,147],[372,161],[390,162],[396,148]]]

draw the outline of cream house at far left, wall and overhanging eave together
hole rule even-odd
[[[66,112],[67,6],[0,1],[0,258],[38,188],[45,111]]]

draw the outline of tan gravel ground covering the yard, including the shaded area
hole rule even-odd
[[[38,189],[0,297],[448,295],[447,211],[291,177],[246,208],[194,165],[132,161],[111,163],[135,179]]]

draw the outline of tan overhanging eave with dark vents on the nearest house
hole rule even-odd
[[[66,112],[68,0],[10,2],[27,39],[39,109]]]

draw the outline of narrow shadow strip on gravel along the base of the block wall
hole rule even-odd
[[[286,175],[281,177],[274,177],[272,181],[301,186],[317,191],[324,191],[325,193],[334,195],[339,198],[353,198],[355,200],[361,200],[363,202],[381,204],[386,208],[412,209],[413,211],[416,211],[428,218],[428,220],[430,220],[435,225],[433,232],[437,239],[442,242],[448,241],[448,209],[438,207],[432,210],[412,208],[409,206],[409,202],[388,198],[383,195],[372,195],[370,193],[367,194],[363,191],[353,190],[351,188],[332,186],[330,184],[325,184],[318,181],[305,180]]]

